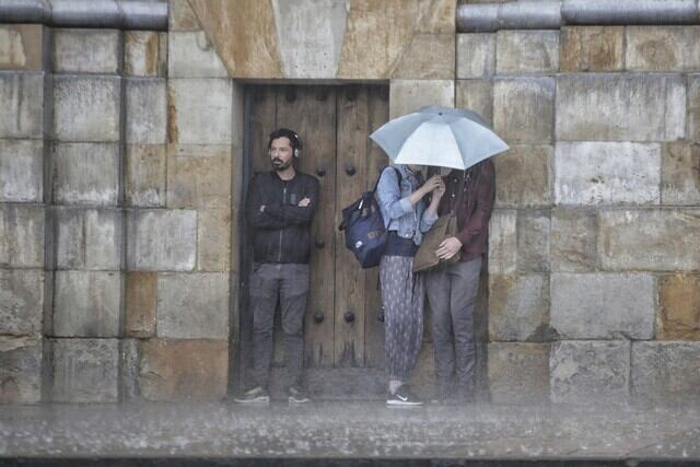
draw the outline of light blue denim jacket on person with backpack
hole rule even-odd
[[[376,187],[376,197],[384,218],[384,226],[388,231],[397,231],[401,238],[412,238],[416,245],[420,245],[423,233],[428,232],[438,220],[438,214],[425,212],[428,205],[423,199],[416,206],[411,206],[410,196],[419,187],[415,177],[409,174],[405,165],[395,165],[401,172],[401,186],[398,186],[398,177],[393,167],[386,167],[382,172]]]

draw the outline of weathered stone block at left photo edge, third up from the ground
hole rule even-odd
[[[0,267],[43,268],[44,208],[0,205]]]

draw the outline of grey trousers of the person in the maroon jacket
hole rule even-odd
[[[474,392],[476,347],[474,301],[479,289],[481,258],[428,272],[428,301],[432,311],[438,389],[444,395],[457,376],[458,388]]]

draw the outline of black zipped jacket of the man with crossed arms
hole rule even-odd
[[[300,208],[299,201],[311,199]],[[265,211],[260,207],[265,205]],[[246,217],[255,229],[255,262],[307,264],[311,221],[318,208],[318,180],[301,172],[283,182],[276,172],[256,174],[248,186]]]

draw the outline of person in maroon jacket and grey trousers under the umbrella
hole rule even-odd
[[[443,259],[459,255],[459,261],[430,271],[425,285],[432,311],[438,400],[464,404],[474,400],[474,302],[495,197],[493,162],[487,159],[466,171],[453,170],[444,182],[439,213],[454,210],[458,233],[442,242],[435,253]],[[460,188],[462,206],[455,206]]]

